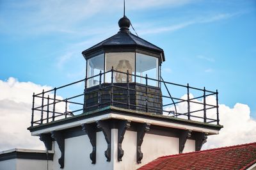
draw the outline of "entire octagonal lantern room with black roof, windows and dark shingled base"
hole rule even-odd
[[[116,35],[82,52],[87,63],[84,111],[113,105],[162,114],[163,49],[133,35],[125,15],[118,25]]]

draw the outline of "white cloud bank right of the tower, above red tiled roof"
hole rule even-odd
[[[193,98],[192,94],[189,94],[189,98]],[[186,100],[187,95],[181,97]],[[203,103],[202,100],[193,100],[195,102]],[[207,104],[216,105],[216,97],[209,96],[206,98]],[[177,112],[187,112],[188,105],[186,102],[182,102],[177,105]],[[202,109],[200,104],[190,104],[191,111]],[[166,108],[166,110],[174,111],[174,107]],[[256,120],[250,117],[250,107],[246,104],[235,104],[230,108],[225,104],[219,105],[220,112],[220,134],[208,136],[207,143],[204,144],[203,149],[219,148],[222,146],[230,146],[235,144],[252,143],[256,140]],[[204,113],[193,113],[195,116],[203,116]],[[181,117],[180,117],[181,118]],[[187,119],[187,116],[183,116]],[[216,119],[216,109],[207,110],[207,118]],[[191,118],[191,120],[202,121],[202,119]]]

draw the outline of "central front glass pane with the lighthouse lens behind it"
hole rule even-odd
[[[127,70],[134,74],[134,52],[109,52],[106,53],[106,71],[113,69],[113,82],[127,82]],[[119,73],[124,72],[124,73]],[[105,82],[111,82],[111,72],[106,74]],[[129,75],[129,82],[134,82],[134,77]]]

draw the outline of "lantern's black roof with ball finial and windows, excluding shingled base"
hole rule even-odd
[[[131,22],[125,15],[119,20],[118,25],[120,31],[116,35],[82,52],[87,61],[86,77],[92,77],[88,79],[87,88],[99,85],[99,77],[93,76],[100,72],[108,72],[112,68],[116,71],[113,82],[118,83],[127,82],[127,76],[124,74],[126,72],[129,73],[129,82],[140,84],[146,84],[142,78],[146,75],[155,80],[159,80],[161,76],[163,49],[133,35],[129,31]],[[110,83],[110,73],[106,73],[101,82]],[[159,87],[156,81],[148,81],[148,85]]]

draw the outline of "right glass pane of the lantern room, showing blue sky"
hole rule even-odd
[[[136,53],[136,75],[158,80],[158,58]],[[136,77],[136,82],[146,84],[146,79]],[[157,81],[148,80],[148,85],[158,86]]]

